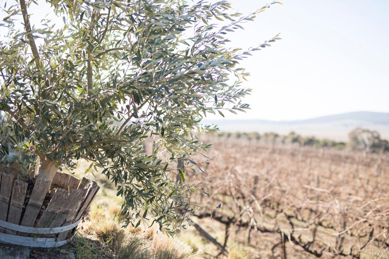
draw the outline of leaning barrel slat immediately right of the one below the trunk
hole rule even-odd
[[[35,224],[35,227],[48,227],[58,210],[61,208],[63,202],[66,200],[69,192],[64,189],[57,189],[49,205],[40,216],[38,222]]]

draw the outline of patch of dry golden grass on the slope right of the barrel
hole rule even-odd
[[[123,228],[121,207],[116,204],[108,206],[96,202],[86,218],[88,221],[75,242],[79,259],[187,259],[192,256],[189,245],[164,235],[158,227],[145,231],[140,227]]]

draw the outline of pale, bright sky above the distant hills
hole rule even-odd
[[[270,2],[229,1],[242,13]],[[251,74],[244,83],[253,88],[244,100],[251,109],[226,117],[282,121],[352,111],[389,112],[389,1],[282,2],[242,24],[245,30],[228,35],[231,47],[243,49],[278,33],[283,39],[241,62]],[[43,9],[31,5],[33,23],[47,13]]]

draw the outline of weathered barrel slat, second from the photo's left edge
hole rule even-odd
[[[28,183],[23,182],[21,180],[15,180],[14,189],[12,190],[7,222],[19,224],[27,187]],[[5,232],[7,234],[16,234],[16,231],[12,230],[6,230]]]

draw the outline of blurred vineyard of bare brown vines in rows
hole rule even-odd
[[[202,190],[191,203],[221,204],[191,216],[214,238],[199,247],[203,258],[233,258],[236,246],[248,258],[389,258],[388,154],[209,141],[205,173],[186,176]]]

